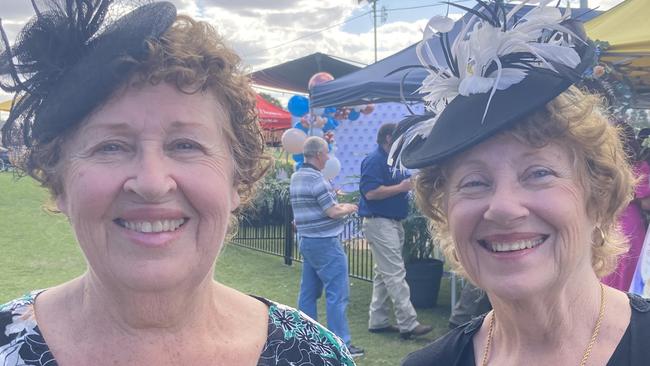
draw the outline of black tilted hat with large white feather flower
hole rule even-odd
[[[570,9],[528,1],[507,10],[503,1],[479,1],[453,43],[453,22],[434,17],[425,40],[440,39],[445,60],[426,42],[418,56],[429,75],[419,91],[427,114],[398,125],[391,165],[423,168],[486,140],[542,108],[579,81],[595,52]],[[451,23],[451,24],[450,24]]]

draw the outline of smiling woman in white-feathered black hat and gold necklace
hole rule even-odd
[[[650,303],[600,282],[626,251],[633,174],[600,98],[572,85],[593,48],[547,3],[481,2],[446,66],[423,56],[434,113],[402,124],[393,157],[420,169],[420,209],[493,310],[404,365],[647,363]]]

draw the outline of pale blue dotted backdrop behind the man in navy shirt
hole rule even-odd
[[[423,105],[412,106],[414,113],[424,112]],[[333,180],[335,188],[345,192],[359,189],[363,158],[377,147],[377,130],[384,123],[397,123],[410,113],[402,103],[378,103],[370,114],[361,114],[356,121],[343,121],[335,131],[336,151],[341,172]]]

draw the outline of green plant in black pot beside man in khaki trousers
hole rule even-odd
[[[438,301],[443,261],[434,258],[433,239],[427,218],[417,211],[413,202],[404,225],[404,264],[406,282],[411,290],[411,303],[417,308],[430,308]]]

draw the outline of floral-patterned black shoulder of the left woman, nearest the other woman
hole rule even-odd
[[[268,336],[258,365],[354,365],[345,343],[327,328],[290,306],[256,298],[269,307]]]

